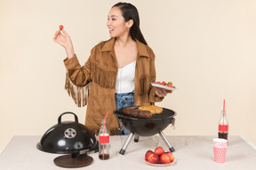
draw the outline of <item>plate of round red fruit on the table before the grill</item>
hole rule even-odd
[[[172,152],[164,152],[164,149],[160,146],[155,151],[148,150],[143,159],[150,166],[171,166],[176,163],[176,158],[174,158]]]

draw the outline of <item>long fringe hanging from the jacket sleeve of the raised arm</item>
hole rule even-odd
[[[68,71],[66,73],[66,83],[65,89],[68,91],[68,96],[72,97],[75,104],[78,107],[85,106],[88,103],[89,91],[91,87],[91,83],[87,84],[84,87],[76,86],[70,79],[68,75]]]

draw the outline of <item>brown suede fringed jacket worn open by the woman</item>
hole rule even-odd
[[[116,39],[100,42],[91,51],[91,56],[80,66],[76,54],[64,59],[67,68],[65,89],[77,106],[87,104],[85,126],[98,135],[101,120],[107,112],[107,128],[110,135],[119,134],[119,124],[113,111],[116,109],[115,91],[118,71],[114,44]],[[138,56],[135,66],[134,105],[150,105],[164,97],[156,97],[156,88],[149,82],[156,81],[155,54],[148,45],[137,41]],[[89,95],[90,89],[90,95]]]

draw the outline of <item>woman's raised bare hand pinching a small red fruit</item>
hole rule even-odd
[[[72,44],[72,41],[70,39],[70,36],[62,29],[62,35],[60,33],[60,29],[56,31],[53,41],[59,43],[62,47],[65,48],[68,58],[72,58],[74,56],[74,47]]]

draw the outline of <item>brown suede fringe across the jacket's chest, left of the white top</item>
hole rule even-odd
[[[115,89],[117,71],[109,71],[92,64],[92,79],[93,82],[100,85],[102,88]]]

